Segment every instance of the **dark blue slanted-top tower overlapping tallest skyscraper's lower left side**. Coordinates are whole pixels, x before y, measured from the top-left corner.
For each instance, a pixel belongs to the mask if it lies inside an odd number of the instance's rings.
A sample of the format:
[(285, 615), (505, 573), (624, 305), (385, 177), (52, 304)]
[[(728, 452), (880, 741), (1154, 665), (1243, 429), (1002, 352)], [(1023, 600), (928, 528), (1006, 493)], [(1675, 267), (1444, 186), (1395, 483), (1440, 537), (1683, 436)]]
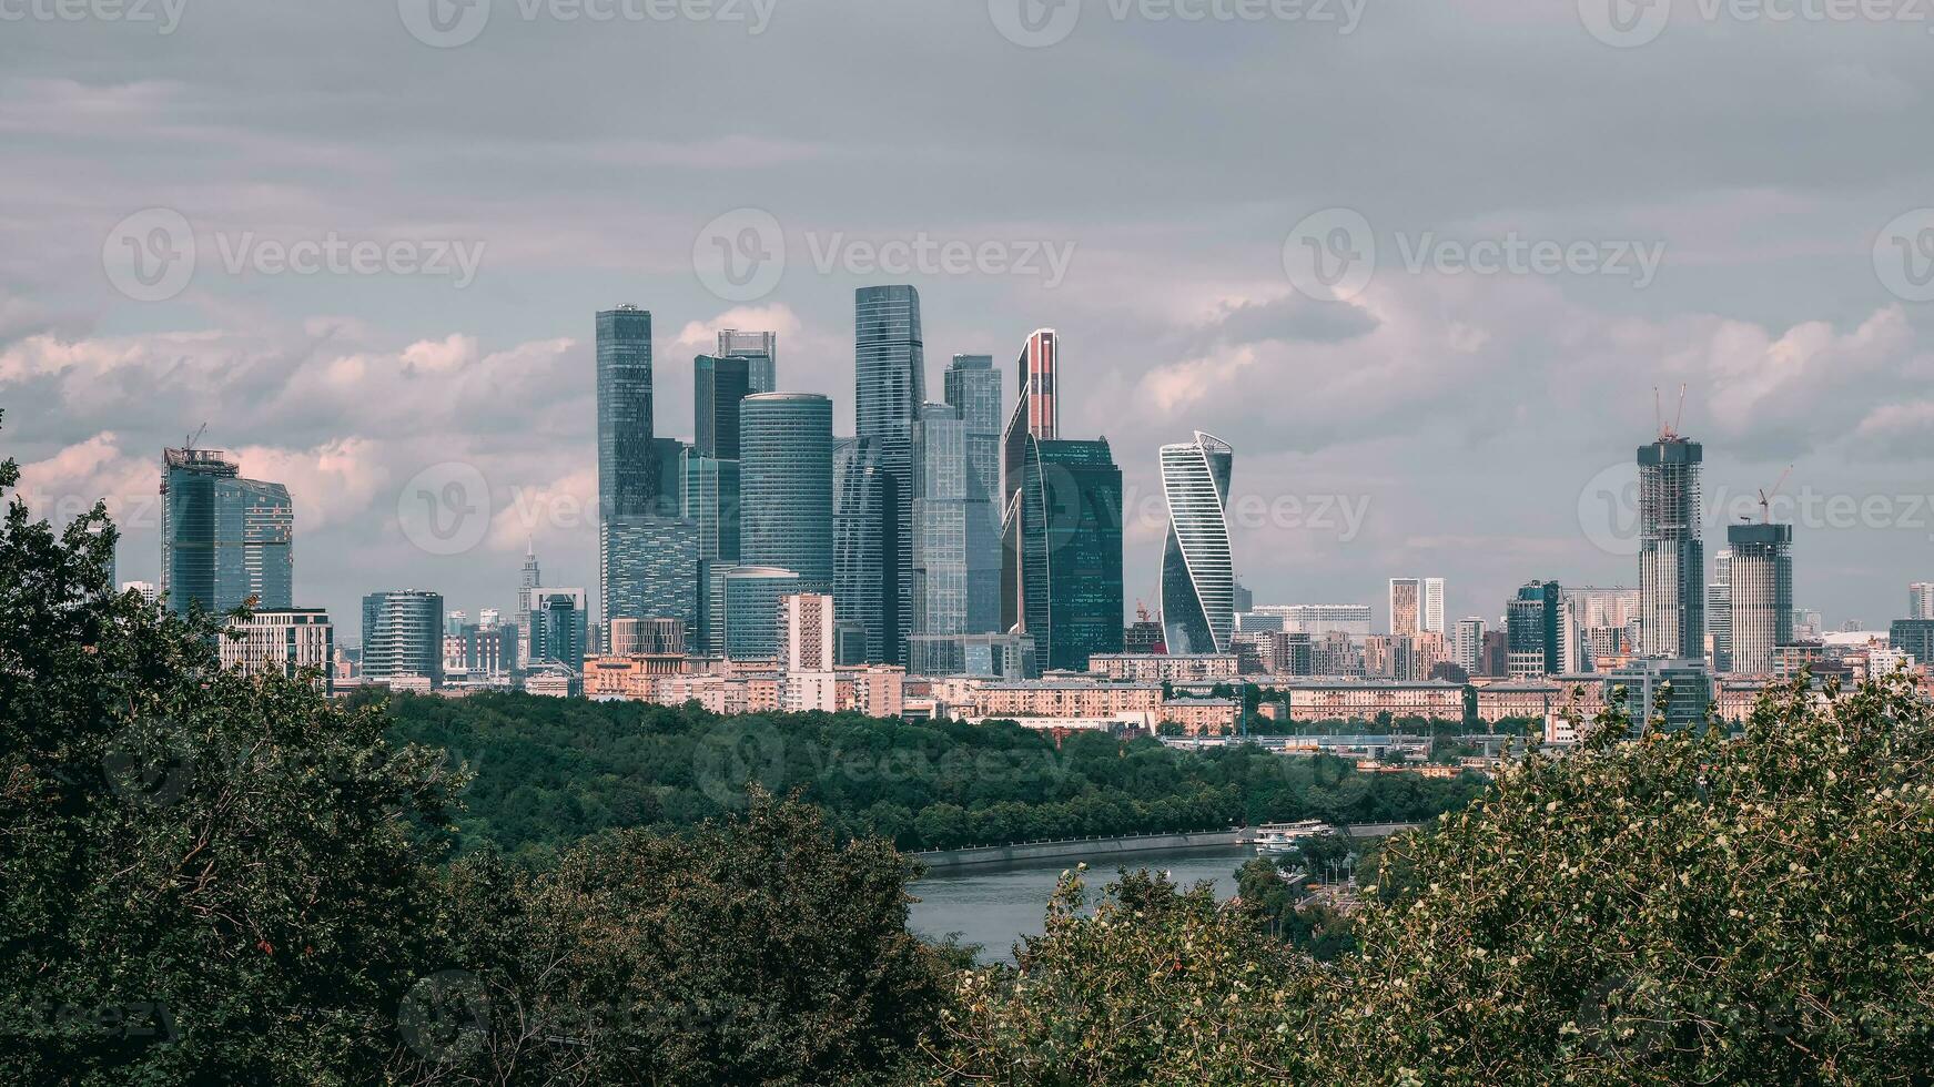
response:
[(886, 663), (899, 631), (897, 484), (880, 464), (880, 443), (834, 445), (834, 598), (839, 619), (866, 631), (863, 663)]

